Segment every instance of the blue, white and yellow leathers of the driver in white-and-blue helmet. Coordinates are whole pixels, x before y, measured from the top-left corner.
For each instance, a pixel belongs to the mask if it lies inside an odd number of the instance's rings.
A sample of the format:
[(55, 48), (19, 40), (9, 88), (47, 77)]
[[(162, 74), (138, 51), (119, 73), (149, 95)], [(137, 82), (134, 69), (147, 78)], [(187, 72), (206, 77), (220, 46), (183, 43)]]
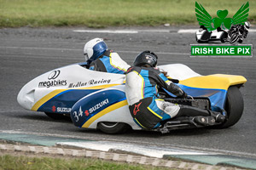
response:
[(90, 70), (124, 74), (130, 67), (119, 54), (108, 49), (102, 56), (90, 63)]

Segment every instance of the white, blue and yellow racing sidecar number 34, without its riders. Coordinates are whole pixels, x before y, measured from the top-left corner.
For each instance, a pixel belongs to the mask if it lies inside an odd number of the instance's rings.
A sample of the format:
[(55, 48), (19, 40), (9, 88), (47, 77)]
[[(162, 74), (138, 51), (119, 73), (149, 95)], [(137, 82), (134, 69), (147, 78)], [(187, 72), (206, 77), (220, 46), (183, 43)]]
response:
[[(201, 76), (182, 64), (160, 65), (169, 77), (178, 80), (189, 99), (176, 99), (164, 93), (166, 100), (226, 114), (224, 123), (214, 127), (230, 127), (239, 121), (243, 99), (239, 88), (245, 77), (214, 74)], [(164, 90), (163, 90), (164, 91)], [(34, 78), (21, 88), (18, 103), (31, 111), (43, 111), (53, 118), (70, 115), (77, 127), (98, 128), (104, 133), (122, 133), (132, 128), (142, 130), (133, 121), (125, 97), (125, 75), (90, 71), (86, 63), (67, 65)], [(202, 127), (191, 117), (177, 117), (161, 122), (154, 131), (167, 133), (177, 128)]]

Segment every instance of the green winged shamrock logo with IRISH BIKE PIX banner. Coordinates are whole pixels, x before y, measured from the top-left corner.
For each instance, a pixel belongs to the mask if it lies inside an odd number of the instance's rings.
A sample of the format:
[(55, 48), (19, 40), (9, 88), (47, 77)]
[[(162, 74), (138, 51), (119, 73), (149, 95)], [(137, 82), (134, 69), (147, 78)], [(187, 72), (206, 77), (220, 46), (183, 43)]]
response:
[(232, 18), (228, 16), (227, 9), (218, 10), (217, 17), (212, 18), (201, 3), (195, 2), (195, 16), (200, 30), (195, 32), (195, 40), (198, 44), (190, 45), (190, 56), (252, 57), (253, 45), (241, 44), (247, 38), (250, 28), (250, 23), (247, 21), (248, 13), (247, 2), (241, 5)]

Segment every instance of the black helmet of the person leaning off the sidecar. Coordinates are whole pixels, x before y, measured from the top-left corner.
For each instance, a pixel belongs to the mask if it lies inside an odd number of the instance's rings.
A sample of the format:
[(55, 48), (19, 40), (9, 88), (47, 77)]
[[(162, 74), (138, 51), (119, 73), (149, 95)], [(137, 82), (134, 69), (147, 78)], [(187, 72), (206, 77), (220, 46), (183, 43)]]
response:
[(143, 51), (138, 54), (136, 59), (133, 61), (134, 66), (146, 66), (155, 67), (157, 65), (157, 55), (151, 51)]

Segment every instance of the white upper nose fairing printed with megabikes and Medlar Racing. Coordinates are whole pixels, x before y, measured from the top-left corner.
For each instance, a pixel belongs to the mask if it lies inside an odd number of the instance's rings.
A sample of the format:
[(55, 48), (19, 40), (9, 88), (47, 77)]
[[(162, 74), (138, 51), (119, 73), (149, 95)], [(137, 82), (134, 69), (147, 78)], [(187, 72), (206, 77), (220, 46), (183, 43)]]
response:
[(125, 75), (90, 71), (80, 65), (67, 65), (34, 78), (21, 88), (18, 103), (31, 110), (39, 99), (56, 89), (90, 88), (101, 85), (121, 84)]

